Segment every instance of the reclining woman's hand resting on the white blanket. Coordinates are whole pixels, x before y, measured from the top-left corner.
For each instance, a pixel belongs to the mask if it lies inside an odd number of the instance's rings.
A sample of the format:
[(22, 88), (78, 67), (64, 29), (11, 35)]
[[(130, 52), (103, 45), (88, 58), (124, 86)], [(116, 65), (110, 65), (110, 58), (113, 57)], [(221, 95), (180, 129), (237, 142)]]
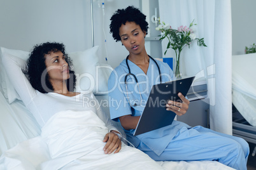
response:
[(107, 133), (105, 135), (103, 140), (103, 142), (106, 142), (106, 145), (103, 148), (104, 154), (111, 154), (114, 150), (115, 150), (114, 154), (116, 154), (121, 150), (122, 142), (119, 136), (117, 136), (117, 134), (115, 133), (119, 133), (119, 132), (111, 131), (110, 133)]

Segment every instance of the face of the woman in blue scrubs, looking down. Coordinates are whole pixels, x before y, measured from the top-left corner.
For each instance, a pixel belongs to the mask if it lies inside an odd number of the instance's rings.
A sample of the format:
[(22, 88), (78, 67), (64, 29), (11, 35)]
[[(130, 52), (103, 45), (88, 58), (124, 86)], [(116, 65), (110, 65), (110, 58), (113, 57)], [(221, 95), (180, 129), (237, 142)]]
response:
[(119, 36), (130, 55), (138, 55), (145, 50), (146, 32), (135, 22), (126, 22), (119, 28)]

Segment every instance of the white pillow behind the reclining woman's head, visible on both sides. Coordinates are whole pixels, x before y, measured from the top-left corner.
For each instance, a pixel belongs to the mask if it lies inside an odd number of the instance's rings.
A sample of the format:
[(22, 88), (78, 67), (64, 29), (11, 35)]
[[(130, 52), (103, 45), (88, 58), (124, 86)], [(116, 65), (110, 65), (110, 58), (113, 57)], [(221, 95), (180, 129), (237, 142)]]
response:
[[(29, 52), (0, 48), (0, 87), (3, 95), (12, 103), (16, 99), (20, 100), (20, 96), (13, 88), (5, 70), (3, 69), (2, 57), (3, 55), (13, 55), (22, 58), (24, 62), (29, 58)], [(68, 53), (73, 60), (74, 71), (76, 74), (76, 91), (92, 91), (95, 95), (108, 94), (108, 77), (113, 70), (110, 65), (103, 65), (99, 63), (97, 50), (99, 46), (86, 49), (85, 51), (78, 51)]]

